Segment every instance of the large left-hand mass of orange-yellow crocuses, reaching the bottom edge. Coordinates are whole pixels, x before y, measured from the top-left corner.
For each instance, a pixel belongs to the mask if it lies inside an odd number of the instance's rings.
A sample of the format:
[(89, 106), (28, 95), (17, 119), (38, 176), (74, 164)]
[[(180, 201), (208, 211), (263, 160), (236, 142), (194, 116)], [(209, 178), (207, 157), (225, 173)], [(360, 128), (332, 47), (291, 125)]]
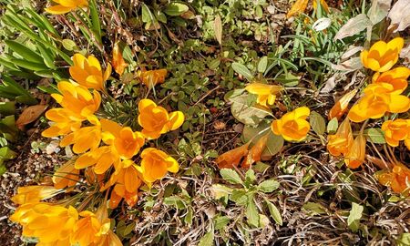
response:
[[(52, 178), (54, 187), (19, 188), (13, 200), (21, 206), (12, 220), (22, 224), (23, 235), (38, 238), (37, 245), (121, 245), (110, 231), (107, 208), (117, 208), (122, 200), (134, 206), (143, 183), (151, 187), (168, 171), (178, 172), (176, 159), (153, 148), (153, 144), (147, 149), (144, 146), (149, 139), (179, 128), (184, 115), (180, 111), (168, 112), (152, 100), (142, 99), (138, 103), (138, 118), (135, 118), (139, 130), (101, 118), (102, 114), (98, 113), (100, 92), (109, 97), (104, 83), (111, 67), (108, 65), (104, 72), (94, 56), (76, 54), (73, 61), (74, 66), (69, 69), (73, 80), (57, 84), (59, 93), (51, 96), (60, 108), (46, 112), (50, 127), (42, 135), (61, 137), (60, 146), (71, 146), (77, 156), (56, 169)], [(76, 190), (78, 185), (92, 191)], [(86, 197), (96, 195), (106, 199), (99, 202), (95, 213), (93, 206), (85, 210), (89, 200), (55, 204), (42, 201), (74, 190), (84, 192)]]

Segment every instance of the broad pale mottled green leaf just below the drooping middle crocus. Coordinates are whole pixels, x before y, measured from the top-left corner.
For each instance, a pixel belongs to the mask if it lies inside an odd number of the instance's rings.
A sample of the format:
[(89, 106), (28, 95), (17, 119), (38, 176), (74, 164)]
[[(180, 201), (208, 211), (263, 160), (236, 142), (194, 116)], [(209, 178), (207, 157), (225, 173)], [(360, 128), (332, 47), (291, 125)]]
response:
[(263, 118), (272, 115), (268, 109), (259, 105), (250, 106), (248, 95), (233, 97), (230, 101), (232, 102), (231, 113), (233, 117), (245, 125), (256, 126)]

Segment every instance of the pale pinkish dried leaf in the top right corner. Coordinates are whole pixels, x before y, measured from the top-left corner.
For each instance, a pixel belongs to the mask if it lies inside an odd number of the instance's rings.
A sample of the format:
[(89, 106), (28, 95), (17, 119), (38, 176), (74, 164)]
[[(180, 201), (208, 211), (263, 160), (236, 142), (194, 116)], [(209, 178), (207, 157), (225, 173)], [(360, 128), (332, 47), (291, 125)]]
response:
[(405, 30), (407, 26), (410, 26), (410, 0), (398, 0), (390, 10), (388, 17), (392, 20), (389, 30), (394, 30), (394, 32)]

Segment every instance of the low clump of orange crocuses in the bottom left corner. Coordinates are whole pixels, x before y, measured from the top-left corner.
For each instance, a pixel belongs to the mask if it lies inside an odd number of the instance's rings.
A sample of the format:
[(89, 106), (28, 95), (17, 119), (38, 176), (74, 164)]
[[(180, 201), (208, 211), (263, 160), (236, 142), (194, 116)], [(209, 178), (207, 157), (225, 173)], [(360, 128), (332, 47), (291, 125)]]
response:
[(22, 204), (10, 217), (23, 226), (23, 236), (38, 239), (36, 245), (122, 246), (110, 229), (106, 203), (92, 212), (43, 202), (40, 197), (37, 199)]

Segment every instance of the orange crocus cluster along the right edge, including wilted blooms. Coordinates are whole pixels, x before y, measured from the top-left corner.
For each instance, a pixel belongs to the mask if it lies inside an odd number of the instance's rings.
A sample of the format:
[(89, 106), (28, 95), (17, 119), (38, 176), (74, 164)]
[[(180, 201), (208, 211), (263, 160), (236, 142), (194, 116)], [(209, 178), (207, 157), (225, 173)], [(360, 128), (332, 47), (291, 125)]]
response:
[[(361, 54), (364, 67), (375, 72), (372, 83), (364, 87), (362, 97), (350, 108), (347, 118), (343, 120), (337, 132), (328, 136), (327, 144), (329, 152), (336, 157), (342, 155), (349, 168), (356, 169), (364, 163), (366, 146), (363, 134), (365, 126), (354, 138), (351, 121), (361, 123), (369, 119), (390, 116), (391, 113), (405, 113), (410, 108), (409, 97), (402, 95), (408, 85), (407, 78), (410, 76), (410, 69), (394, 67), (403, 46), (404, 39), (396, 37), (388, 43), (378, 41)], [(341, 118), (348, 109), (349, 101), (356, 93), (357, 91), (354, 90), (343, 96), (331, 109), (329, 118)], [(382, 125), (382, 130), (388, 145), (397, 147), (400, 141), (404, 141), (407, 149), (410, 149), (409, 119), (386, 120)], [(381, 174), (376, 175), (376, 178), (382, 184), (391, 186), (394, 191), (403, 192), (408, 189), (409, 173), (404, 164), (397, 162), (391, 170), (382, 171)]]

